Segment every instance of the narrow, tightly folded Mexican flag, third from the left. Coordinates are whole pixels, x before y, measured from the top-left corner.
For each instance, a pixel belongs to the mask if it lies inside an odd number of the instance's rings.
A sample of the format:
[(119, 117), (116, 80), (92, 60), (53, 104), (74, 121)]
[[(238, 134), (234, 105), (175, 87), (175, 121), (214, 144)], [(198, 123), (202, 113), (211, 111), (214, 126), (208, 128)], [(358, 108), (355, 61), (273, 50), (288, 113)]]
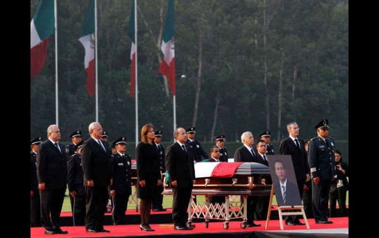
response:
[(130, 18), (129, 18), (129, 27), (127, 29), (127, 35), (129, 36), (131, 40), (131, 48), (130, 48), (130, 60), (131, 60), (131, 66), (130, 66), (130, 86), (129, 86), (129, 92), (130, 96), (134, 98), (134, 88), (135, 88), (135, 28), (134, 28), (134, 0), (132, 0), (133, 6), (131, 8), (130, 12)]

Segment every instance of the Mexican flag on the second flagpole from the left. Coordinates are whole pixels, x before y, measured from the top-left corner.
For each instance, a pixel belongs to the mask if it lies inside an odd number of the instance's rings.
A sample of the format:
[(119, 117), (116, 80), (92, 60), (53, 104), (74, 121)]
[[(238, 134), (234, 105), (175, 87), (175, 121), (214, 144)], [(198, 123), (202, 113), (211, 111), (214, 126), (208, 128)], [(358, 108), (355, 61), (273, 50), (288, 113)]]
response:
[(84, 67), (87, 72), (87, 92), (95, 94), (95, 0), (90, 0), (79, 38), (85, 51)]

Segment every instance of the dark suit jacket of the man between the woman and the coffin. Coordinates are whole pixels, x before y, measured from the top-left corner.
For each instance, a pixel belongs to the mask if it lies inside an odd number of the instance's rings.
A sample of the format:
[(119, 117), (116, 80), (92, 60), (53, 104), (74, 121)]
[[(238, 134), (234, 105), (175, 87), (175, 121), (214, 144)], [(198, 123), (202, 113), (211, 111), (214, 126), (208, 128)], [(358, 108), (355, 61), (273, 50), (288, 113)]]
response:
[(192, 150), (185, 144), (187, 153), (183, 151), (178, 142), (167, 147), (166, 168), (170, 182), (177, 181), (178, 187), (192, 185), (195, 179)]

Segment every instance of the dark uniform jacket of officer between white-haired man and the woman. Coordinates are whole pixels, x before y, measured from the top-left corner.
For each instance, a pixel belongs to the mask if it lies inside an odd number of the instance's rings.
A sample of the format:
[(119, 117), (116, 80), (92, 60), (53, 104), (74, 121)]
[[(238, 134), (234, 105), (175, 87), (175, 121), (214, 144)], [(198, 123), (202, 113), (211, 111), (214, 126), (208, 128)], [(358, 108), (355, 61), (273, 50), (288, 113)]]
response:
[(127, 196), (131, 194), (131, 158), (124, 154), (124, 158), (116, 153), (111, 158), (111, 170), (113, 174), (113, 184), (110, 190), (116, 190), (117, 195)]

